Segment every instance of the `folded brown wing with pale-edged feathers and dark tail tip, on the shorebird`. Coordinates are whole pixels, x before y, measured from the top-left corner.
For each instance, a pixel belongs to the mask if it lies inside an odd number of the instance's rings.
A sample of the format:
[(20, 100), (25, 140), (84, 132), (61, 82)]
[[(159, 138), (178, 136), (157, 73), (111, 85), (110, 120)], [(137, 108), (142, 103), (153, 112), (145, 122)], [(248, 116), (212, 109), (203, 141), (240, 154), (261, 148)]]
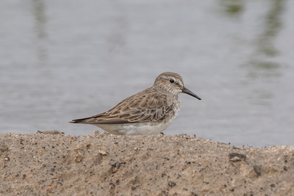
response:
[(120, 124), (163, 120), (167, 116), (166, 114), (173, 110), (173, 106), (168, 105), (166, 94), (152, 93), (154, 92), (152, 88), (147, 88), (142, 93), (122, 100), (114, 108), (104, 113), (76, 119), (69, 123)]

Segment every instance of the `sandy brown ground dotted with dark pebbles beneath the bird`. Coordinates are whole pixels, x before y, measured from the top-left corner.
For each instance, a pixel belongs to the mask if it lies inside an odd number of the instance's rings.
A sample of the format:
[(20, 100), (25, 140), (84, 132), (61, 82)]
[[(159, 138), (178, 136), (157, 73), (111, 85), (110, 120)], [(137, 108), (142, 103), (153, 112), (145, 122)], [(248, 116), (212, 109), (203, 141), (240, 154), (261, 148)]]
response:
[(0, 195), (294, 195), (294, 148), (186, 135), (0, 135)]

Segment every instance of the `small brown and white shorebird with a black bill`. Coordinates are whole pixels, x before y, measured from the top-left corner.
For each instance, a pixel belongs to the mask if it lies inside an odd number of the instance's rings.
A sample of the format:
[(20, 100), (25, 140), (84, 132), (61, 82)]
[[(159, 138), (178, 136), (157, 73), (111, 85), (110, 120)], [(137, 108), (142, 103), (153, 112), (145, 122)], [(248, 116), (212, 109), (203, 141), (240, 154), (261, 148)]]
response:
[(178, 94), (200, 97), (184, 86), (177, 73), (161, 73), (153, 86), (129, 96), (112, 109), (69, 123), (95, 125), (113, 135), (157, 135), (168, 128), (181, 109)]

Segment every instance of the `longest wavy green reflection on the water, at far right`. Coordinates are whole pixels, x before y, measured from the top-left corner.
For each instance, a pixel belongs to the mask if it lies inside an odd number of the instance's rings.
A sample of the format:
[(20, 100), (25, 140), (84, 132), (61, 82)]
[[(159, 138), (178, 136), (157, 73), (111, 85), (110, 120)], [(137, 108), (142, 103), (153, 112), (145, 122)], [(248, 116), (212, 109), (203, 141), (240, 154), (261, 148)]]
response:
[(255, 50), (249, 57), (249, 62), (242, 67), (247, 69), (246, 83), (253, 85), (253, 90), (248, 97), (252, 104), (269, 106), (274, 99), (274, 92), (271, 88), (281, 76), (281, 65), (274, 57), (278, 56), (279, 51), (275, 48), (274, 41), (281, 30), (283, 22), (284, 0), (264, 1), (270, 4), (265, 18), (261, 33), (255, 39)]

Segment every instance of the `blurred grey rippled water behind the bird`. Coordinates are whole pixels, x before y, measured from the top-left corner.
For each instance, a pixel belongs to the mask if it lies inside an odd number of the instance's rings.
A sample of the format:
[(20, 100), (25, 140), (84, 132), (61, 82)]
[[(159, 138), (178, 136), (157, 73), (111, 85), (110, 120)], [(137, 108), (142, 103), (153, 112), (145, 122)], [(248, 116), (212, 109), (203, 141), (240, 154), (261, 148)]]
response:
[[(165, 134), (294, 145), (294, 1), (0, 2), (0, 133), (59, 130), (181, 74)], [(100, 130), (101, 131), (101, 130)]]

